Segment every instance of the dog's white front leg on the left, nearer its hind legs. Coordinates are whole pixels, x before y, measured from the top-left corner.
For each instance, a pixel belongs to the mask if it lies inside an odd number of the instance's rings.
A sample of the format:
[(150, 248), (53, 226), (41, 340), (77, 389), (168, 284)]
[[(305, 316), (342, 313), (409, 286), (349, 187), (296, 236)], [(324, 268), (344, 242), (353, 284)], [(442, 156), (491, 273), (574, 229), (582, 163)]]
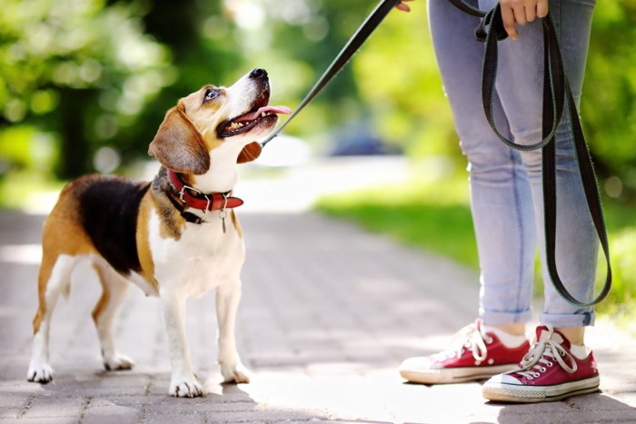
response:
[(180, 398), (202, 396), (203, 389), (194, 375), (185, 337), (185, 299), (168, 291), (161, 293), (161, 301), (172, 367), (169, 393)]

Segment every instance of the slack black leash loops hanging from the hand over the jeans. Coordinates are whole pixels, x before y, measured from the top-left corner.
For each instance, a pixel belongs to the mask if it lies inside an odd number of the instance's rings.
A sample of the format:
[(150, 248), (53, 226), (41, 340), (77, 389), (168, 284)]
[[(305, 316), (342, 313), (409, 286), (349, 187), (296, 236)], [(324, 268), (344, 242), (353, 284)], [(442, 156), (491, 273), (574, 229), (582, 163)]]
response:
[[(605, 299), (611, 289), (611, 265), (610, 249), (607, 238), (607, 229), (603, 219), (601, 197), (596, 182), (596, 175), (591, 163), (591, 156), (585, 143), (585, 136), (581, 128), (579, 114), (577, 112), (574, 96), (567, 75), (563, 69), (561, 47), (556, 35), (552, 16), (542, 18), (543, 26), (543, 118), (542, 141), (521, 145), (507, 140), (497, 129), (492, 116), (492, 104), (495, 95), (495, 82), (497, 80), (497, 41), (506, 38), (506, 32), (502, 25), (502, 13), (497, 4), (491, 11), (483, 12), (466, 5), (462, 0), (449, 0), (452, 5), (465, 13), (482, 18), (482, 23), (477, 28), (475, 35), (484, 46), (483, 70), (482, 70), (482, 103), (486, 118), (492, 130), (497, 136), (513, 149), (531, 151), (542, 149), (542, 179), (543, 179), (543, 215), (545, 225), (546, 261), (552, 284), (561, 297), (571, 305), (586, 308), (595, 305)], [(556, 149), (555, 135), (561, 122), (561, 115), (565, 102), (571, 119), (571, 128), (574, 136), (574, 147), (581, 173), (581, 182), (585, 192), (588, 210), (596, 233), (599, 236), (601, 247), (607, 262), (607, 275), (605, 284), (599, 295), (590, 302), (582, 302), (575, 299), (565, 288), (556, 266), (556, 224), (557, 224), (557, 189), (556, 189)], [(567, 225), (567, 222), (564, 223)]]

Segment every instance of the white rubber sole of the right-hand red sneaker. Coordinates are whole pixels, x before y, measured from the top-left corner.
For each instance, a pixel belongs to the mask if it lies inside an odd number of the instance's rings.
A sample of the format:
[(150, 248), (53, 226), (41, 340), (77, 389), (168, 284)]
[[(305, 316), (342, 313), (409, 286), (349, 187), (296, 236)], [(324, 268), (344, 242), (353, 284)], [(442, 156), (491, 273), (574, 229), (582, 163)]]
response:
[(591, 379), (571, 381), (555, 386), (521, 386), (514, 384), (483, 385), (483, 397), (489, 400), (515, 403), (553, 402), (594, 393), (599, 390), (598, 376)]

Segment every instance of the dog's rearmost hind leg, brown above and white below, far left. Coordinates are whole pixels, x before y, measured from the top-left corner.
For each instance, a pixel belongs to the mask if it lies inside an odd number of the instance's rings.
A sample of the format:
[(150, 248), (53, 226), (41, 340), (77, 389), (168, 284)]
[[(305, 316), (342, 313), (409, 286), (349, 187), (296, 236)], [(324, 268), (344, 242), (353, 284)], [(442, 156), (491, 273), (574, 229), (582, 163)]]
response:
[(33, 351), (26, 375), (29, 381), (47, 383), (53, 380), (53, 369), (49, 365), (51, 318), (60, 293), (68, 289), (76, 261), (75, 256), (44, 251), (38, 275), (39, 306), (33, 320)]

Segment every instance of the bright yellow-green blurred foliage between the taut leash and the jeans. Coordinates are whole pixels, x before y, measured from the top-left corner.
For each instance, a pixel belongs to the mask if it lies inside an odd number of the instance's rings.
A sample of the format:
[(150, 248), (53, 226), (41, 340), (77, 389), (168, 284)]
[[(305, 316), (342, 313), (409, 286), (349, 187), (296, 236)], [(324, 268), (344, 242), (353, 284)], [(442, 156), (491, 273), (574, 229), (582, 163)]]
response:
[(376, 130), (412, 156), (458, 156), (451, 109), (432, 51), (423, 5), (393, 14), (355, 57), (353, 68)]

